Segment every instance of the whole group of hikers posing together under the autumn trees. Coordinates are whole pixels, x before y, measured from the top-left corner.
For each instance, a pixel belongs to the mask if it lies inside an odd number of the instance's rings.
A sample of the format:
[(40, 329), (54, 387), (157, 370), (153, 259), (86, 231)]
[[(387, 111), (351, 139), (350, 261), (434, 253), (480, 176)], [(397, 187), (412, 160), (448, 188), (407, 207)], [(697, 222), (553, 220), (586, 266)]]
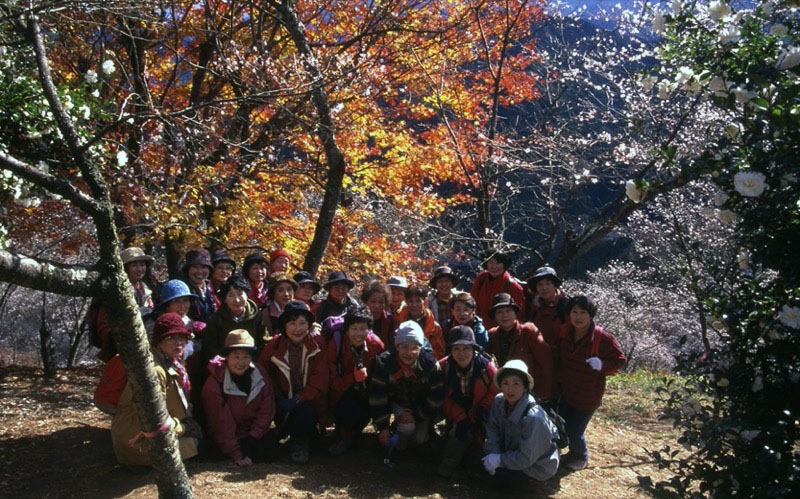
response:
[[(323, 283), (287, 274), (285, 250), (248, 255), (239, 273), (223, 251), (191, 250), (184, 278), (156, 299), (145, 284), (153, 258), (139, 248), (122, 257), (183, 459), (217, 453), (248, 466), (277, 459), (288, 437), (290, 459), (305, 463), (331, 426), (327, 451), (342, 455), (372, 422), (397, 451), (440, 439), (442, 476), (472, 456), (503, 484), (546, 480), (559, 465), (587, 466), (586, 427), (626, 361), (590, 298), (565, 296), (550, 267), (523, 286), (499, 251), (469, 292), (440, 266), (428, 286), (364, 283), (360, 301), (344, 271)], [(107, 312), (97, 314), (99, 358), (119, 370)], [(103, 409), (118, 461), (147, 465), (130, 386), (114, 402)]]

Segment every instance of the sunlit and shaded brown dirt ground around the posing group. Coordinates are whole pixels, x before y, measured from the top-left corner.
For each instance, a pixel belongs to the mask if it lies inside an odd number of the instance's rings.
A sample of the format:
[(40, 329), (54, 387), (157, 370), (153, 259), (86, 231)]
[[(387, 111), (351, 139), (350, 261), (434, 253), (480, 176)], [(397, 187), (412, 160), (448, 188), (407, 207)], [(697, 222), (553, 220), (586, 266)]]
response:
[[(0, 368), (0, 490), (3, 497), (154, 497), (152, 474), (116, 465), (110, 418), (91, 402), (98, 371)], [(368, 430), (371, 431), (371, 430)], [(186, 463), (196, 497), (509, 497), (487, 487), (478, 469), (453, 481), (436, 475), (436, 452), (398, 454), (392, 469), (373, 435), (333, 458), (320, 447), (304, 466), (288, 457), (238, 468), (231, 461)], [(659, 476), (644, 448), (673, 437), (642, 394), (613, 387), (589, 424), (589, 468), (560, 471), (526, 497), (641, 497), (637, 475)], [(513, 494), (518, 495), (518, 494)]]

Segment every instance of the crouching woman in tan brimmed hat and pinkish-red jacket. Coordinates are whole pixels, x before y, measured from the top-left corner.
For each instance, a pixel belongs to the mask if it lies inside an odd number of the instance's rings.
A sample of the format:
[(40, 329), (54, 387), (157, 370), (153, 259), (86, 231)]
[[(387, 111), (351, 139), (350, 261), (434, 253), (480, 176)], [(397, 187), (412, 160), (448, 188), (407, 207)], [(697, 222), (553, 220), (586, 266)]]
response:
[(263, 367), (253, 364), (253, 337), (235, 329), (225, 338), (224, 357), (208, 363), (203, 408), (211, 438), (239, 466), (271, 461), (277, 444), (269, 435), (275, 417), (275, 394)]

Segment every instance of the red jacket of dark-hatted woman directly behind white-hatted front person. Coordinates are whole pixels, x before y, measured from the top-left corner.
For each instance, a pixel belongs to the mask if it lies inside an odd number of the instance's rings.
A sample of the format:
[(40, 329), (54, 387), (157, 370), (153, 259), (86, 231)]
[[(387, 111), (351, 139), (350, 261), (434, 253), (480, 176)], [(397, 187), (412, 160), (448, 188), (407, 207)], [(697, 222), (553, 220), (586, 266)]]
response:
[(556, 396), (555, 362), (550, 345), (545, 343), (542, 333), (536, 325), (530, 322), (520, 324), (514, 322), (513, 337), (508, 353), (503, 356), (500, 327), (489, 330), (489, 346), (492, 354), (497, 357), (499, 365), (509, 360), (519, 359), (528, 366), (528, 372), (533, 376), (533, 392), (542, 401), (547, 401)]

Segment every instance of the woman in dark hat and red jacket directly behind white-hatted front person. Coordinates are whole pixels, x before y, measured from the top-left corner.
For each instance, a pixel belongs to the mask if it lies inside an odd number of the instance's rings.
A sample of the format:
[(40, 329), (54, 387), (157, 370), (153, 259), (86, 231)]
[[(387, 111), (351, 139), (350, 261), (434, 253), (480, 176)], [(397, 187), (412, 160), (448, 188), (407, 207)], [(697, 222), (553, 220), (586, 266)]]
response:
[(519, 359), (528, 366), (535, 383), (533, 392), (542, 404), (554, 402), (555, 362), (550, 345), (531, 322), (520, 324), (517, 320), (519, 305), (514, 298), (500, 293), (492, 300), (489, 316), (498, 326), (489, 330), (489, 346), (500, 365)]

